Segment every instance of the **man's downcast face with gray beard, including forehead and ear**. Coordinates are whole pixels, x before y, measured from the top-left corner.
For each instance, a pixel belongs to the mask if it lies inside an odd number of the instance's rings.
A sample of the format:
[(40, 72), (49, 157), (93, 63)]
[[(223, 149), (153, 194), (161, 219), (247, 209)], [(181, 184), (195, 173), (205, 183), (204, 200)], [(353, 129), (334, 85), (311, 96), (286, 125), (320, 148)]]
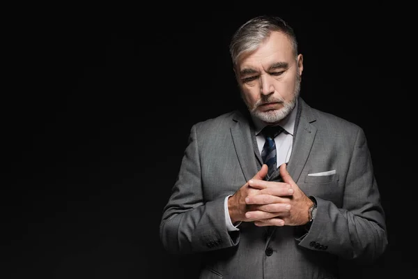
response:
[(255, 52), (238, 61), (238, 84), (252, 115), (265, 123), (277, 123), (287, 116), (300, 91), (302, 54), (296, 58), (291, 41), (279, 32)]

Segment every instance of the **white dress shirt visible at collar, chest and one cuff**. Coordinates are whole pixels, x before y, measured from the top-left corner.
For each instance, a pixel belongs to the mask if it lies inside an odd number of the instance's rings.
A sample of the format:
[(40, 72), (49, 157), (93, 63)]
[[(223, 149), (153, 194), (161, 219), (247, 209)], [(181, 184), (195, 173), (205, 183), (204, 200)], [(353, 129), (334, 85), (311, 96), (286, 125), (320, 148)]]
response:
[[(281, 128), (284, 128), (284, 130), (279, 135), (277, 135), (277, 137), (274, 137), (274, 142), (276, 144), (276, 153), (277, 153), (277, 164), (276, 164), (277, 167), (280, 167), (280, 165), (283, 163), (288, 163), (288, 160), (291, 157), (296, 114), (297, 114), (297, 103), (295, 105), (295, 108), (292, 110), (292, 112), (288, 116), (286, 116), (286, 118), (282, 119), (279, 122), (279, 125), (281, 126)], [(260, 151), (260, 154), (261, 154), (261, 151), (263, 150), (263, 145), (265, 142), (265, 137), (261, 134), (261, 130), (263, 130), (263, 128), (266, 125), (265, 123), (263, 123), (259, 119), (256, 119), (255, 117), (252, 117), (252, 120), (254, 121), (254, 126), (255, 126), (258, 151)], [(240, 223), (238, 223), (235, 226), (231, 223), (231, 217), (229, 216), (229, 210), (228, 210), (228, 198), (230, 196), (231, 195), (227, 196), (224, 202), (226, 227), (229, 231), (236, 231), (236, 230), (239, 230), (238, 225), (240, 225)]]

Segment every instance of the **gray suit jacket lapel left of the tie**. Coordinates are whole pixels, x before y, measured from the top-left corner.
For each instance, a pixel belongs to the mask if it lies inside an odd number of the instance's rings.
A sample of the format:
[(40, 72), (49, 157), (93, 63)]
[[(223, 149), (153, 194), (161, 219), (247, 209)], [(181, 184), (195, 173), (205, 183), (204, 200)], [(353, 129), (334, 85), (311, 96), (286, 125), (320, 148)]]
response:
[(254, 160), (254, 135), (251, 135), (253, 131), (245, 116), (237, 112), (233, 116), (233, 121), (231, 136), (245, 181), (248, 181), (258, 172), (256, 160)]

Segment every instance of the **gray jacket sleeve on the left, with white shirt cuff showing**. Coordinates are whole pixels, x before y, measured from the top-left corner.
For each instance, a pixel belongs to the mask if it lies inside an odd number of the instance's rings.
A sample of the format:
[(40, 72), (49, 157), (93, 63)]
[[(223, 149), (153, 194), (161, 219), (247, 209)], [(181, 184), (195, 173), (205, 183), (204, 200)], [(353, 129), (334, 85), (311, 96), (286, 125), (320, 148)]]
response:
[(180, 171), (160, 223), (162, 245), (171, 253), (231, 247), (239, 237), (238, 232), (230, 235), (226, 229), (225, 197), (204, 202), (196, 127), (194, 125), (189, 134)]

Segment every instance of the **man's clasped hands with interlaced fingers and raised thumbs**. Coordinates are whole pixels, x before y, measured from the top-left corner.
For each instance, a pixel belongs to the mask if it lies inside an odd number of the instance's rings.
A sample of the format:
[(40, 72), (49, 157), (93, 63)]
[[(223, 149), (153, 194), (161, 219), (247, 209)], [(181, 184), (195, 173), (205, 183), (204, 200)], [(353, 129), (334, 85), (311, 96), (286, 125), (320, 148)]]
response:
[(311, 199), (293, 181), (286, 164), (279, 168), (283, 182), (264, 181), (267, 165), (228, 199), (232, 223), (254, 222), (255, 225), (304, 225), (309, 221)]

